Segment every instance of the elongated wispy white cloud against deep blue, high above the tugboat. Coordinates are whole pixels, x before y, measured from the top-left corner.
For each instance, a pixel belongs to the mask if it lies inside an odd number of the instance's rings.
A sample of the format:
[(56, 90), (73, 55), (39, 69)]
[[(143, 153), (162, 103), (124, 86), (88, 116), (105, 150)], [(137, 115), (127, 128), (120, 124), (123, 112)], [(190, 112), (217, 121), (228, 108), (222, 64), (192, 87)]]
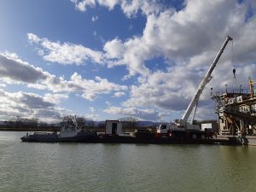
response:
[(102, 64), (104, 61), (102, 52), (86, 48), (81, 44), (50, 42), (47, 38), (38, 38), (32, 33), (27, 33), (27, 38), (31, 44), (38, 44), (38, 55), (42, 55), (45, 61), (63, 65), (81, 65), (85, 61)]

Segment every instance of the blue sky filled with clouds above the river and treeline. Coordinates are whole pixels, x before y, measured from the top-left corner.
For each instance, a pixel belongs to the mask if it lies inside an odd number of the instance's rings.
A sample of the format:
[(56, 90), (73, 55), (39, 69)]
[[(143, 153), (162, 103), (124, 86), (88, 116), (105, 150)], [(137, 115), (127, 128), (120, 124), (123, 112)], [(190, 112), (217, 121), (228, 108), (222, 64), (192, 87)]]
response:
[(195, 115), (216, 119), (211, 88), (256, 79), (255, 11), (253, 0), (0, 1), (0, 119), (180, 119), (229, 35)]

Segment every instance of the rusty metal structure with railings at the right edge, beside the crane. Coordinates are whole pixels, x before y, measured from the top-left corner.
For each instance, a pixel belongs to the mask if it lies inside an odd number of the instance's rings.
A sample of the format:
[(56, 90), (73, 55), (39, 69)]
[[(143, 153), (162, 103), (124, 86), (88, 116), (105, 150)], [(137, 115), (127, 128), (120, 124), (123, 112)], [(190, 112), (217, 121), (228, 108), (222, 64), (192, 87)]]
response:
[[(236, 80), (236, 70), (233, 70)], [(249, 77), (248, 89), (227, 89), (223, 92), (211, 92), (212, 100), (217, 103), (219, 133), (223, 135), (256, 134), (256, 90)], [(234, 82), (234, 81), (233, 81)]]

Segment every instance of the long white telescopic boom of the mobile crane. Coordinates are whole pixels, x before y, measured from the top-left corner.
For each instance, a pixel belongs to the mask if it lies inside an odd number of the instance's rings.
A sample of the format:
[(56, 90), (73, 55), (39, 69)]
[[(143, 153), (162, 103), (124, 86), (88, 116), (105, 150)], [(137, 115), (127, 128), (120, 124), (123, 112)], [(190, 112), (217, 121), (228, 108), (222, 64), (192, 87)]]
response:
[(196, 103), (199, 101), (201, 93), (204, 90), (206, 84), (209, 83), (210, 80), (212, 79), (211, 74), (212, 74), (214, 67), (216, 67), (219, 57), (222, 55), (222, 53), (223, 53), (226, 45), (229, 43), (229, 41), (232, 41), (232, 40), (233, 40), (233, 38), (230, 38), (230, 36), (227, 36), (227, 38), (225, 38), (224, 44), (222, 45), (221, 49), (219, 49), (218, 54), (216, 55), (215, 59), (213, 60), (211, 67), (208, 69), (206, 76), (202, 79), (201, 84), (199, 85), (195, 96), (189, 103), (189, 107), (187, 108), (186, 112), (183, 114), (183, 118), (181, 119), (183, 121), (183, 123), (187, 122), (187, 120), (189, 119), (189, 115), (192, 112), (192, 109), (195, 107)]

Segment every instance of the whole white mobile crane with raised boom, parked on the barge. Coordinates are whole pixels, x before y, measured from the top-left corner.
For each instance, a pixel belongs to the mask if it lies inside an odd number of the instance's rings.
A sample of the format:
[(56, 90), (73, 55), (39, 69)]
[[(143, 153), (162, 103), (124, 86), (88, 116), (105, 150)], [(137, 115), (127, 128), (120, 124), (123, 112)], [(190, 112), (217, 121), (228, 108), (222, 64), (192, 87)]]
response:
[[(172, 136), (174, 135), (177, 137), (207, 137), (207, 133), (204, 133), (203, 131), (200, 131), (200, 127), (198, 125), (194, 125), (194, 117), (195, 117), (195, 111), (197, 108), (197, 104), (199, 102), (199, 98), (201, 96), (202, 91), (204, 90), (207, 83), (210, 82), (212, 79), (212, 71), (214, 67), (216, 67), (216, 64), (218, 62), (218, 59), (224, 52), (224, 49), (226, 45), (229, 43), (229, 41), (232, 41), (233, 38), (230, 38), (230, 36), (227, 36), (225, 38), (224, 44), (221, 46), (221, 48), (218, 51), (218, 54), (215, 56), (212, 65), (209, 67), (205, 77), (201, 80), (201, 84), (199, 84), (199, 87), (195, 93), (195, 96), (189, 103), (189, 106), (186, 110), (186, 112), (183, 114), (182, 119), (174, 119), (171, 123), (168, 124), (161, 124), (157, 127), (157, 134), (160, 136)], [(188, 122), (189, 116), (192, 113), (192, 110), (194, 109), (194, 113), (191, 119), (191, 122)], [(191, 133), (191, 134), (190, 134)]]

